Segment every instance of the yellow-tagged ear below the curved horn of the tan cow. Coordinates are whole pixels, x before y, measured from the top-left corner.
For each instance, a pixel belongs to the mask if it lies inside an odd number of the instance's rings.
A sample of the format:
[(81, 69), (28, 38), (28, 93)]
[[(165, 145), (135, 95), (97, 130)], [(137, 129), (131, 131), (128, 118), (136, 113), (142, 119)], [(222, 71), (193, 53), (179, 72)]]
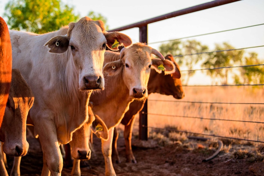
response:
[(168, 59), (162, 61), (161, 59), (153, 58), (151, 67), (155, 69), (158, 73), (164, 71), (165, 75), (172, 74), (175, 72), (174, 63), (172, 61), (169, 61)]

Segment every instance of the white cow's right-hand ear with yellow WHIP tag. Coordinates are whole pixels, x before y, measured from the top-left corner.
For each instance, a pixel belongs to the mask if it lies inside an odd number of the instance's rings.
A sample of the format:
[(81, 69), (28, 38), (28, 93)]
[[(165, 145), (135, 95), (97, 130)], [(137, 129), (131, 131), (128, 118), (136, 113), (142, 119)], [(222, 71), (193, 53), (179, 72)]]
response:
[(130, 37), (120, 32), (106, 32), (104, 36), (107, 47), (113, 51), (118, 51), (119, 46), (129, 47), (132, 44)]

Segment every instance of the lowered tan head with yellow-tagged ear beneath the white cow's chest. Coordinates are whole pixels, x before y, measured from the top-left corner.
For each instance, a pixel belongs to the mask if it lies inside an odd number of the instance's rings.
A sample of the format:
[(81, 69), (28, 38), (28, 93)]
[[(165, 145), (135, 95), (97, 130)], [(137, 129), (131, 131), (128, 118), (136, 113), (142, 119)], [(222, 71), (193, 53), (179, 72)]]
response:
[(75, 131), (70, 141), (72, 148), (72, 157), (75, 159), (90, 159), (91, 149), (89, 147), (89, 140), (91, 130), (96, 133), (96, 136), (104, 140), (108, 139), (108, 131), (104, 122), (92, 112), (92, 104), (89, 102), (88, 106), (89, 120), (84, 125)]

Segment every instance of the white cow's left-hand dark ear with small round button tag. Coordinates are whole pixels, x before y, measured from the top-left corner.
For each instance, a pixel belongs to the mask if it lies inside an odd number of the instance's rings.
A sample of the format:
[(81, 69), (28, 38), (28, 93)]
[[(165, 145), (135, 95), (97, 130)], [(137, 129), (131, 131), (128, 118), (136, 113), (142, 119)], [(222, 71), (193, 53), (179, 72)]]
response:
[(45, 46), (48, 45), (51, 53), (64, 53), (69, 48), (69, 37), (68, 36), (56, 36), (50, 39)]

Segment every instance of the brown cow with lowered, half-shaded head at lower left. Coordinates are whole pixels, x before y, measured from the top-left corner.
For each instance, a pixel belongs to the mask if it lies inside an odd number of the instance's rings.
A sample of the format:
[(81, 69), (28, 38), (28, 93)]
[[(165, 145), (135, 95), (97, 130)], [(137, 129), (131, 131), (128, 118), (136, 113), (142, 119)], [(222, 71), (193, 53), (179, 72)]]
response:
[[(7, 155), (24, 156), (28, 152), (26, 121), (34, 95), (18, 69), (12, 69), (12, 81), (0, 129), (2, 149)], [(14, 125), (15, 124), (15, 125)], [(8, 176), (0, 149), (0, 175)]]

